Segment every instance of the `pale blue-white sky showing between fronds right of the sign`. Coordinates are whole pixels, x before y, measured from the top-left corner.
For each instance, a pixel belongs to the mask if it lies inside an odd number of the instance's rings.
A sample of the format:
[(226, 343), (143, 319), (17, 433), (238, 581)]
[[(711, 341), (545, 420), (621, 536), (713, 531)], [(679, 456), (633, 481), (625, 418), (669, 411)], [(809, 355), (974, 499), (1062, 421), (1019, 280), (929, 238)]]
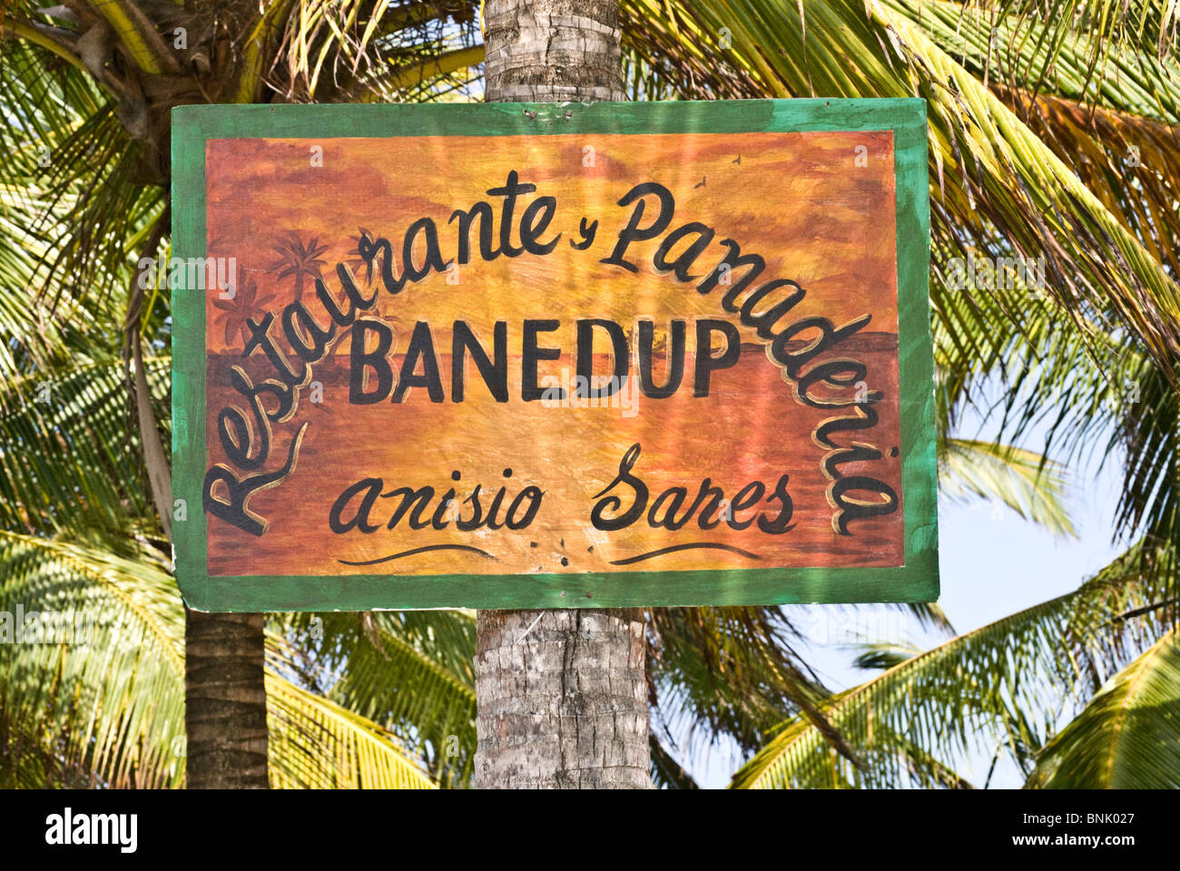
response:
[[(958, 434), (990, 439), (995, 428), (969, 419)], [(1101, 438), (1104, 444), (1104, 436)], [(1043, 439), (1044, 431), (1034, 427), (1022, 439), (1022, 446), (1040, 450)], [(1067, 469), (1070, 486), (1066, 502), (1075, 538), (1055, 536), (997, 503), (958, 502), (939, 496), (942, 595), (938, 602), (957, 633), (1076, 589), (1123, 550), (1112, 542), (1120, 490), (1119, 464), (1108, 463), (1100, 470), (1100, 460), (1101, 452), (1095, 452)], [(848, 636), (884, 640), (906, 635), (923, 649), (945, 640), (937, 633), (924, 631), (907, 613), (889, 605), (799, 607), (792, 618), (813, 640), (808, 662), (832, 690), (846, 689), (877, 674), (852, 666), (858, 651), (841, 643)], [(741, 761), (732, 749), (722, 747), (688, 760), (686, 768), (702, 787), (721, 788)], [(990, 764), (990, 755), (965, 759), (956, 770), (982, 787)], [(1016, 766), (1004, 760), (996, 766), (990, 781), (991, 788), (1018, 788), (1022, 784)]]

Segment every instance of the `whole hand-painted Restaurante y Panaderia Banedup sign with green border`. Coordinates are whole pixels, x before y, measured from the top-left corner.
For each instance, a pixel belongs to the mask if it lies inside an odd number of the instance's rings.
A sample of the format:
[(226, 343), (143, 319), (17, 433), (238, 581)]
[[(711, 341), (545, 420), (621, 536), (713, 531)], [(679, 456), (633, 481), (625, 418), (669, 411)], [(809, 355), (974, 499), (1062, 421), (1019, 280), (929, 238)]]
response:
[(926, 185), (917, 99), (177, 109), (185, 600), (936, 598)]

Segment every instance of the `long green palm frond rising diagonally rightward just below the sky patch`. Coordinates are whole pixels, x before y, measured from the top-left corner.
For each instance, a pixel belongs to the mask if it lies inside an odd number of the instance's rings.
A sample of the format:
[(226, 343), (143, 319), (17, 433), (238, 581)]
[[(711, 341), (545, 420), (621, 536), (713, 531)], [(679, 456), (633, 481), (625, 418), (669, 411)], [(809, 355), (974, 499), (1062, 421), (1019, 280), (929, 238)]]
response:
[[(1141, 637), (1113, 631), (1110, 620), (1160, 601), (1167, 581), (1142, 565), (1133, 550), (1074, 592), (952, 638), (822, 702), (820, 710), (868, 762), (866, 772), (794, 716), (734, 774), (732, 787), (929, 786), (930, 778), (910, 767), (911, 747), (948, 758), (998, 744), (1020, 760), (1047, 738), (1035, 722), (1051, 722)], [(1152, 622), (1147, 631), (1163, 629)]]

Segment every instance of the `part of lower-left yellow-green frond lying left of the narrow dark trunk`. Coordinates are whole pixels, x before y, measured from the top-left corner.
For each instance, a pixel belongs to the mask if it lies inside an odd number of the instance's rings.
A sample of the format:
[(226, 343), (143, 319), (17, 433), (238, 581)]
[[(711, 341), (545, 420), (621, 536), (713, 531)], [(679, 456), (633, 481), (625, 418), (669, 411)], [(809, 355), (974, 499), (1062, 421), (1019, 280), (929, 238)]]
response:
[(22, 746), (92, 786), (177, 786), (184, 616), (171, 576), (146, 558), (0, 531), (0, 611), (18, 607), (81, 634), (0, 644), (4, 767), (19, 777)]

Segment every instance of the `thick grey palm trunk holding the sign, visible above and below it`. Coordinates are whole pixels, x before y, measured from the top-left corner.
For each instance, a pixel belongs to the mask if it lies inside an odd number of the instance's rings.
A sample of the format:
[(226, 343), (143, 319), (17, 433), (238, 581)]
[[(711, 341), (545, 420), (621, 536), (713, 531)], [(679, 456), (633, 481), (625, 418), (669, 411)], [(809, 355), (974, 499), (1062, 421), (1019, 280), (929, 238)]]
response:
[[(487, 0), (484, 41), (489, 101), (623, 98), (617, 0)], [(480, 611), (476, 626), (476, 786), (651, 786), (642, 611)]]

